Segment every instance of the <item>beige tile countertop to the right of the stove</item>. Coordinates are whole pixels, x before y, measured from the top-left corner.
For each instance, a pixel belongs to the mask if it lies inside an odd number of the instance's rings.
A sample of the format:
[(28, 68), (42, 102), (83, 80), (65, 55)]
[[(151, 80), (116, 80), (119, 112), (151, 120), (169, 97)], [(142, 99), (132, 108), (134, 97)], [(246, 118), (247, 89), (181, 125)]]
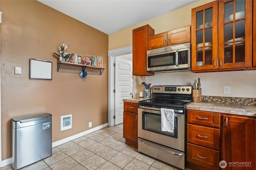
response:
[(190, 110), (212, 111), (217, 113), (256, 117), (256, 106), (220, 104), (220, 103), (209, 103), (209, 102), (202, 102), (202, 103), (192, 102), (188, 104), (186, 108)]

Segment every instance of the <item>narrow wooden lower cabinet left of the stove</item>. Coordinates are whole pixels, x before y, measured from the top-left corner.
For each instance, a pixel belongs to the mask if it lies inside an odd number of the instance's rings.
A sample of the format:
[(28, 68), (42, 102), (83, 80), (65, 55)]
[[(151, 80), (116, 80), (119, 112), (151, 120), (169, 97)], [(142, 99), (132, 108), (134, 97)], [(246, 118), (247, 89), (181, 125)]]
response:
[(125, 143), (138, 148), (138, 104), (124, 102)]

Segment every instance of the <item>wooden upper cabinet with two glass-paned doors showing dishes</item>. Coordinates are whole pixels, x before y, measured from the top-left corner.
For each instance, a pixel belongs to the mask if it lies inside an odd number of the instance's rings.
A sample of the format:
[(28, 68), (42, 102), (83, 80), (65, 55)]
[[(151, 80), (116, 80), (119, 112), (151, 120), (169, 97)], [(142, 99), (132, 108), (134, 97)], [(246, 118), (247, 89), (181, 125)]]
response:
[(192, 72), (252, 68), (252, 1), (219, 0), (192, 9)]

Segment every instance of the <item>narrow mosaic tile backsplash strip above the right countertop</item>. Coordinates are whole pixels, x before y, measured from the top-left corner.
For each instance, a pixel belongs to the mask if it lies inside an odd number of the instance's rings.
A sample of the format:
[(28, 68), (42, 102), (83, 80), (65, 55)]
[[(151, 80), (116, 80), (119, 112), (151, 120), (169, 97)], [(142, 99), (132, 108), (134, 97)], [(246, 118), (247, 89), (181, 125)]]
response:
[(235, 97), (221, 97), (221, 96), (202, 96), (202, 102), (256, 106), (256, 98), (235, 98)]

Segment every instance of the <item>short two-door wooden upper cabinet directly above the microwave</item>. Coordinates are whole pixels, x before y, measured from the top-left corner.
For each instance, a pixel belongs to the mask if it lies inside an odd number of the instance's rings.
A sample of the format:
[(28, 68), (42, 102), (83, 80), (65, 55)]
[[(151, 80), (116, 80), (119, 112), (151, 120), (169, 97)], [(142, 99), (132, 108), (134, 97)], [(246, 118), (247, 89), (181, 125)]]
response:
[(190, 25), (148, 37), (148, 50), (190, 42)]

